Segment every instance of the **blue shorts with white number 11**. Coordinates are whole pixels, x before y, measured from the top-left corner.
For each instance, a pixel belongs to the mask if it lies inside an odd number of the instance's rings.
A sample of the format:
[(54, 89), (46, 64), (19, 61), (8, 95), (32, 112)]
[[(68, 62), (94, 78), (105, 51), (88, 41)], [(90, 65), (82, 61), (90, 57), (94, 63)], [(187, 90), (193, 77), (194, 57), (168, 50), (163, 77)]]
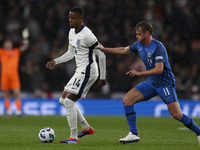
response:
[(144, 81), (136, 85), (135, 88), (144, 95), (145, 100), (159, 95), (165, 104), (178, 101), (176, 90), (173, 85), (156, 87), (151, 85), (148, 81)]

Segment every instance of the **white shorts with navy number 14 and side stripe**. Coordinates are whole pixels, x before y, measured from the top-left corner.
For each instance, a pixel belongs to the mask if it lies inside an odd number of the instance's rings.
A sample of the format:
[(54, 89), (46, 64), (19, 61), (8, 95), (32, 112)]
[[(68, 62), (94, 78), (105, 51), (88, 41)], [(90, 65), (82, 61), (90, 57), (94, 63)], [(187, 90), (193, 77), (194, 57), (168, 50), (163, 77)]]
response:
[(76, 94), (85, 98), (89, 89), (97, 80), (98, 76), (86, 76), (85, 74), (75, 73), (64, 87), (64, 91)]

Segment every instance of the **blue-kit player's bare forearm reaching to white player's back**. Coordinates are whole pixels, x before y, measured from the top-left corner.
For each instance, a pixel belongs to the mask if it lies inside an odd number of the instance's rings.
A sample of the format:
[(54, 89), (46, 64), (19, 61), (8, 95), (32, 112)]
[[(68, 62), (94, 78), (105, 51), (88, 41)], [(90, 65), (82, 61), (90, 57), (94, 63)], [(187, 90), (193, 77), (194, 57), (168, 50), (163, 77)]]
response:
[(100, 43), (98, 46), (96, 46), (97, 49), (100, 49), (101, 51), (104, 52), (108, 52), (108, 53), (112, 53), (112, 54), (129, 54), (130, 50), (129, 50), (129, 46), (127, 47), (116, 47), (116, 48), (107, 48), (107, 47), (103, 47)]

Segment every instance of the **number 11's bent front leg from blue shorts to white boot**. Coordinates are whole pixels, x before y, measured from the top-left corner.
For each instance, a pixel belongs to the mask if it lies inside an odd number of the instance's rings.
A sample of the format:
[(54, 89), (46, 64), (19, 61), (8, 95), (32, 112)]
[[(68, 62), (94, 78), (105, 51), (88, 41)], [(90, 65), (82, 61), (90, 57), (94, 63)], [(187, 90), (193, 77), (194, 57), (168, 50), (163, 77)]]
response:
[(136, 124), (136, 112), (134, 109), (134, 104), (147, 100), (153, 96), (157, 95), (156, 92), (151, 88), (148, 82), (142, 82), (135, 88), (132, 88), (123, 98), (124, 110), (127, 122), (130, 127), (130, 133), (119, 140), (121, 143), (130, 143), (139, 141), (139, 136), (137, 132)]

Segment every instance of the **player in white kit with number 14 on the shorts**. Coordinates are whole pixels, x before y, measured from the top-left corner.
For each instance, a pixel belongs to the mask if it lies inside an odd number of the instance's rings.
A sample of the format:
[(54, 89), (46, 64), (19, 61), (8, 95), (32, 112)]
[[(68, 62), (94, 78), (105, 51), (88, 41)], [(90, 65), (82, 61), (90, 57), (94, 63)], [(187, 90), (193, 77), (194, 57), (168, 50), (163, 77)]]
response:
[[(99, 76), (96, 56), (99, 60), (100, 80), (99, 86), (106, 84), (106, 57), (105, 54), (95, 49), (98, 40), (91, 30), (83, 23), (84, 10), (75, 6), (69, 12), (69, 45), (68, 51), (62, 56), (47, 62), (46, 67), (53, 69), (55, 65), (67, 62), (75, 57), (76, 71), (67, 85), (64, 87), (59, 102), (66, 108), (67, 120), (71, 129), (68, 140), (60, 143), (78, 143), (78, 138), (93, 134), (94, 129), (88, 124), (80, 110), (75, 106), (79, 98), (86, 97), (90, 87)], [(77, 135), (77, 120), (81, 124), (82, 131)]]

